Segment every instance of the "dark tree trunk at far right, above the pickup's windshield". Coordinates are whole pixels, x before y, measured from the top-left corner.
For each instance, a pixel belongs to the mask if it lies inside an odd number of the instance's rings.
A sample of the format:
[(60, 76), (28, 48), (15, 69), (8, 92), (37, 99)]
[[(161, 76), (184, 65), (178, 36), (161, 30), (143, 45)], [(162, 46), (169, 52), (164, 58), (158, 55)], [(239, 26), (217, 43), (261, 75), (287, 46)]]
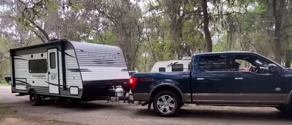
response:
[(282, 24), (282, 10), (284, 8), (284, 0), (280, 0), (279, 8), (277, 9), (277, 0), (273, 0), (273, 14), (275, 22), (275, 31), (274, 31), (274, 45), (275, 45), (275, 61), (281, 64), (281, 24)]

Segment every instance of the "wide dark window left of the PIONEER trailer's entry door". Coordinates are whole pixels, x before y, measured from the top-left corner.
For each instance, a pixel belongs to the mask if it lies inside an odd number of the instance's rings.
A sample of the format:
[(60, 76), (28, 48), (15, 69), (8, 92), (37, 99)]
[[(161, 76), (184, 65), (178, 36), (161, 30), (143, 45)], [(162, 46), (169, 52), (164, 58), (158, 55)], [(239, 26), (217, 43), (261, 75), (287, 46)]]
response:
[(29, 73), (47, 73), (47, 59), (34, 59), (28, 61)]

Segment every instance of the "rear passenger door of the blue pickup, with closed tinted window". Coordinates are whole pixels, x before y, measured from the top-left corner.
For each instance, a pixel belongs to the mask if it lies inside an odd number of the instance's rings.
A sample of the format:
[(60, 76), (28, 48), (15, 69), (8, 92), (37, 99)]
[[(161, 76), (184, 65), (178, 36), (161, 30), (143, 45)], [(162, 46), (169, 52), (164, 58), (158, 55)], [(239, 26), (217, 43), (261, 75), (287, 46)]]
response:
[(196, 60), (192, 100), (198, 104), (225, 103), (227, 96), (232, 96), (231, 75), (226, 69), (225, 55), (200, 56)]

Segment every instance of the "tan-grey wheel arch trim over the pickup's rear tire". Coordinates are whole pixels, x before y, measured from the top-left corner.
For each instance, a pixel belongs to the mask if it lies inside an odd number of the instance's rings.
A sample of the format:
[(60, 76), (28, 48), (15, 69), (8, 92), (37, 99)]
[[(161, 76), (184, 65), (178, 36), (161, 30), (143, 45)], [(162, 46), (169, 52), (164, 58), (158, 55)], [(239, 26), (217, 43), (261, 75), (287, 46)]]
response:
[(182, 95), (180, 94), (178, 89), (175, 89), (174, 87), (169, 86), (169, 85), (163, 85), (163, 86), (160, 86), (160, 87), (157, 87), (156, 89), (154, 89), (150, 95), (149, 101), (152, 102), (154, 96), (161, 91), (172, 91), (180, 98), (180, 101), (183, 101)]

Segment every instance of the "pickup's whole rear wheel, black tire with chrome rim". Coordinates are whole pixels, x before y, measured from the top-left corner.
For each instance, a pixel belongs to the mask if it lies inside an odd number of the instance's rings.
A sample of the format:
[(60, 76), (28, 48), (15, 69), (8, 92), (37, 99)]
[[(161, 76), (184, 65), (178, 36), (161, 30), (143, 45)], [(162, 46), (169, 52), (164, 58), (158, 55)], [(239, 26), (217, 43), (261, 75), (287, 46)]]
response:
[(175, 116), (181, 105), (181, 99), (171, 91), (161, 91), (153, 99), (153, 108), (162, 117)]

